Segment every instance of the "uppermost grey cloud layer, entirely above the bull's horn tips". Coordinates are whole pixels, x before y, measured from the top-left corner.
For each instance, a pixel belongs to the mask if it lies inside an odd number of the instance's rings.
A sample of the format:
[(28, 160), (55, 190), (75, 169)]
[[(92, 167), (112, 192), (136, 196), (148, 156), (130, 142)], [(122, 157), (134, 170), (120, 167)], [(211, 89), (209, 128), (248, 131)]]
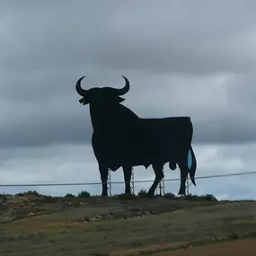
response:
[(23, 71), (86, 62), (150, 73), (254, 70), (253, 1), (162, 3), (8, 4), (2, 61)]

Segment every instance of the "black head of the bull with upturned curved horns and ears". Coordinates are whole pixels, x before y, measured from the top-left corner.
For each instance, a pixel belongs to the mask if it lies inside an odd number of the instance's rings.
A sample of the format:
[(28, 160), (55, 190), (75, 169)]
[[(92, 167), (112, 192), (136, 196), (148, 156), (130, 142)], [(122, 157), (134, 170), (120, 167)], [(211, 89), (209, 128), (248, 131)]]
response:
[(103, 87), (103, 88), (92, 88), (89, 90), (84, 90), (81, 87), (81, 81), (84, 79), (85, 76), (81, 77), (76, 85), (75, 89), (76, 92), (83, 96), (79, 102), (81, 104), (90, 104), (90, 103), (119, 103), (125, 101), (125, 99), (119, 97), (121, 95), (124, 95), (125, 93), (128, 93), (129, 90), (129, 82), (128, 79), (122, 75), (126, 81), (126, 84), (121, 89), (114, 89), (110, 87)]

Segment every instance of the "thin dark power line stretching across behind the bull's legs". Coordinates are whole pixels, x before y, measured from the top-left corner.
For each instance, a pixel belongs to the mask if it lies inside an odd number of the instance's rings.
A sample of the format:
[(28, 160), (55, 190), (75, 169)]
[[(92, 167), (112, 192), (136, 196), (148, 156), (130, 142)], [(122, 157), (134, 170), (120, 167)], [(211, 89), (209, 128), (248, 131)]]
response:
[[(255, 172), (237, 172), (237, 173), (199, 176), (199, 177), (195, 177), (195, 180), (223, 178), (223, 177), (231, 177), (231, 176), (250, 175), (250, 174), (256, 174), (256, 171)], [(164, 181), (181, 181), (181, 180), (182, 180), (181, 178), (164, 179)], [(183, 180), (185, 180), (185, 179), (183, 179)], [(190, 180), (190, 178), (188, 177), (187, 180)], [(146, 183), (146, 182), (153, 182), (153, 180), (134, 181), (134, 182), (135, 183)], [(111, 181), (111, 184), (123, 184), (123, 183), (125, 183), (125, 181)], [(88, 185), (102, 185), (102, 182), (0, 184), (0, 187), (57, 187), (57, 186), (88, 186)]]

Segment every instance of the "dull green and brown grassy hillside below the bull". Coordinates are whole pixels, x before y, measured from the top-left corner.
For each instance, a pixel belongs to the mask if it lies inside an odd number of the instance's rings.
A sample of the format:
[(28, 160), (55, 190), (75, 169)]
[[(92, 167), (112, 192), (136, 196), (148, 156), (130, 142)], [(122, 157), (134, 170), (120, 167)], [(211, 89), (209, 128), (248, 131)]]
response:
[(254, 201), (0, 197), (6, 256), (256, 255), (254, 238)]

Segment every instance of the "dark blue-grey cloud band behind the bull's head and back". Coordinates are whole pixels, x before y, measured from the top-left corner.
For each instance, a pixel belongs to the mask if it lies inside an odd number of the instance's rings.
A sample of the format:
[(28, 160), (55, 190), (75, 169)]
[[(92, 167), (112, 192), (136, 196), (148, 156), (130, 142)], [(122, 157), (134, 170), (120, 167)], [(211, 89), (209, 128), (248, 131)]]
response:
[[(224, 83), (220, 78), (201, 79), (190, 76), (160, 78), (158, 75), (137, 78), (131, 75), (132, 87), (124, 104), (143, 118), (190, 116), (194, 124), (193, 143), (196, 144), (255, 142), (256, 117), (252, 96), (255, 94), (252, 86), (255, 77), (249, 79), (236, 75)], [(85, 78), (83, 86), (90, 88), (92, 80), (92, 76)], [(119, 88), (124, 83), (120, 75), (114, 81), (117, 82), (102, 84)], [(91, 143), (93, 129), (88, 106), (78, 102), (80, 96), (75, 93), (75, 81), (69, 79), (62, 83), (69, 85), (64, 86), (63, 91), (52, 90), (52, 94), (48, 94), (46, 90), (36, 95), (35, 90), (34, 96), (29, 97), (28, 90), (24, 96), (26, 101), (19, 102), (22, 96), (14, 94), (15, 101), (1, 103), (1, 147)], [(41, 86), (45, 88), (43, 84)]]

